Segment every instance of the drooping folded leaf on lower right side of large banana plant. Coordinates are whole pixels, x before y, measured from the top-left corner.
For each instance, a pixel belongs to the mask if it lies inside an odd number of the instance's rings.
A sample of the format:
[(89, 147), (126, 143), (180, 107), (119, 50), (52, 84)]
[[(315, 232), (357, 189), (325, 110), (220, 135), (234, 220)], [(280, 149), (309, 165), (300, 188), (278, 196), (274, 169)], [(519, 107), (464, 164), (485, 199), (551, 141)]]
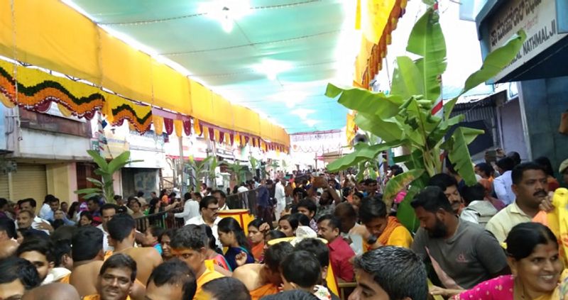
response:
[(483, 133), (484, 130), (464, 127), (458, 127), (452, 133), (452, 148), (449, 149), (448, 158), (468, 186), (476, 184), (477, 180), (467, 145)]

